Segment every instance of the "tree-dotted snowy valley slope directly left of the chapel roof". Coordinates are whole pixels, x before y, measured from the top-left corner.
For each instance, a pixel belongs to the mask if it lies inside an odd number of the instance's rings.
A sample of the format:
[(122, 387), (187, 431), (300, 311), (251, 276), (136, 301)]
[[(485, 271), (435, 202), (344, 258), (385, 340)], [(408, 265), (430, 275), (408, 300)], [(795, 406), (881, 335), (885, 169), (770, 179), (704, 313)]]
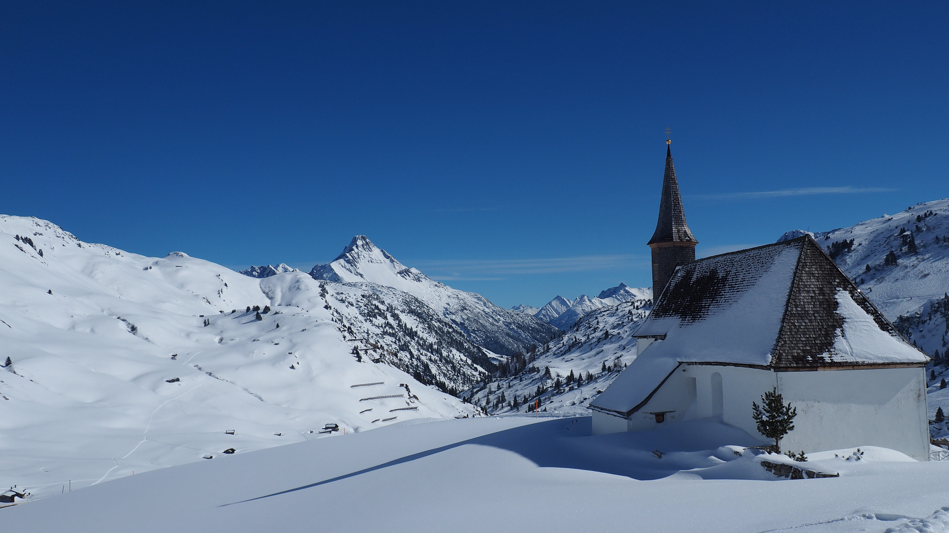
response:
[[(592, 311), (537, 352), (509, 359), (493, 382), (463, 396), (492, 414), (538, 407), (542, 412), (586, 414), (590, 399), (636, 358), (632, 335), (650, 308), (651, 303), (639, 300)], [(581, 381), (567, 383), (571, 372)]]

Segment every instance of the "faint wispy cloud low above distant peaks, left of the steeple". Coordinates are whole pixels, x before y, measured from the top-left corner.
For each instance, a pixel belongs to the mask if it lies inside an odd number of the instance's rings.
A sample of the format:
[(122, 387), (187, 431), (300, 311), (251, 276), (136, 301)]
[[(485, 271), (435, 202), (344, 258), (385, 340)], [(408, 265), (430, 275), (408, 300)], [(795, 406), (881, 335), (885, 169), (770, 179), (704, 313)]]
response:
[(437, 280), (500, 280), (498, 276), (585, 272), (623, 267), (645, 267), (637, 254), (580, 255), (545, 259), (452, 259), (417, 261), (415, 266)]

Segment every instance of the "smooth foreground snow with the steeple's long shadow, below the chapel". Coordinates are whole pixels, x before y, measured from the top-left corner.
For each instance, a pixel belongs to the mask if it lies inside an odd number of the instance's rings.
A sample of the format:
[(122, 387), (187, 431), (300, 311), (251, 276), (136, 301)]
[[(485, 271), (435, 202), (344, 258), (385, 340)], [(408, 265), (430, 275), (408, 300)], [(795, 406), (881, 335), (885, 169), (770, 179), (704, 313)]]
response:
[(711, 420), (608, 435), (591, 435), (589, 416), (415, 423), (129, 476), (0, 509), (0, 521), (76, 533), (949, 528), (949, 462), (828, 450), (803, 465), (840, 477), (778, 481), (761, 461), (788, 458), (752, 444)]

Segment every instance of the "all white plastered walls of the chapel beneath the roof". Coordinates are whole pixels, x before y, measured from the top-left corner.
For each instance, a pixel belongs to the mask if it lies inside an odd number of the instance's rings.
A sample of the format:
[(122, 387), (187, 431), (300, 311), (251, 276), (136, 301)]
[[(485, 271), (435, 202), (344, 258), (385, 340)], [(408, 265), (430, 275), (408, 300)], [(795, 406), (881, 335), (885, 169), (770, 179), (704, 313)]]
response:
[(795, 429), (782, 450), (837, 450), (880, 446), (921, 461), (929, 457), (929, 430), (922, 368), (774, 373), (736, 366), (683, 363), (629, 419), (593, 414), (594, 434), (651, 430), (650, 413), (669, 411), (662, 424), (716, 416), (713, 375), (721, 376), (722, 421), (769, 441), (757, 432), (752, 402), (773, 387), (797, 409)]

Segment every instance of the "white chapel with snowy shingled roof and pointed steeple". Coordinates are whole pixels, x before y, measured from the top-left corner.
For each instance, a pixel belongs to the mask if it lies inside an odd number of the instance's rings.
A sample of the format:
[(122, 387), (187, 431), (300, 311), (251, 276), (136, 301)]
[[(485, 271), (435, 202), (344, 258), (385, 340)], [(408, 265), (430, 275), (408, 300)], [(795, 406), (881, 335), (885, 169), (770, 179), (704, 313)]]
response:
[(929, 458), (925, 365), (810, 235), (695, 260), (666, 150), (649, 241), (655, 303), (637, 358), (597, 396), (593, 432), (716, 418), (767, 443), (752, 403), (796, 408), (782, 450), (879, 446)]

